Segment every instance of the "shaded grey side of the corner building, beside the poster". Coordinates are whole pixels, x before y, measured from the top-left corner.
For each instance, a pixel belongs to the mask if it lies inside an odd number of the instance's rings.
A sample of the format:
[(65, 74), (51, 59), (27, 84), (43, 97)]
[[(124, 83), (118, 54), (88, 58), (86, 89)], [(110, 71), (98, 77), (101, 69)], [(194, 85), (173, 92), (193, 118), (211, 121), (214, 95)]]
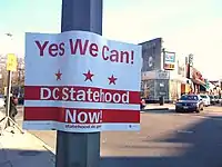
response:
[(140, 43), (142, 46), (141, 95), (150, 100), (160, 96), (169, 99), (169, 76), (162, 71), (162, 38)]

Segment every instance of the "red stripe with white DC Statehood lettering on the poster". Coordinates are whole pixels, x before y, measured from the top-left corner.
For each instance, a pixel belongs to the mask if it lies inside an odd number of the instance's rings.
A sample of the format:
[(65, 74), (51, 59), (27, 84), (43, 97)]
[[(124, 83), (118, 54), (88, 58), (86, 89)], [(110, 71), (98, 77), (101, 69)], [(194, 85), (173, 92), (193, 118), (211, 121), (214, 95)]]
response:
[[(47, 99), (41, 98), (42, 97), (41, 90), (43, 97), (47, 97), (49, 95), (48, 91), (51, 92), (51, 96)], [(73, 90), (74, 92), (71, 94), (70, 90)], [(89, 90), (91, 90), (90, 97), (88, 96)], [(87, 101), (87, 102), (140, 104), (140, 91), (125, 91), (125, 90), (100, 89), (93, 87), (75, 87), (75, 86), (73, 87), (26, 86), (24, 92), (26, 92), (24, 94), (26, 100), (63, 100), (63, 101)], [(68, 98), (65, 98), (64, 94), (69, 95)], [(83, 97), (82, 94), (85, 94), (85, 96)], [(129, 100), (128, 100), (128, 94), (129, 94)]]

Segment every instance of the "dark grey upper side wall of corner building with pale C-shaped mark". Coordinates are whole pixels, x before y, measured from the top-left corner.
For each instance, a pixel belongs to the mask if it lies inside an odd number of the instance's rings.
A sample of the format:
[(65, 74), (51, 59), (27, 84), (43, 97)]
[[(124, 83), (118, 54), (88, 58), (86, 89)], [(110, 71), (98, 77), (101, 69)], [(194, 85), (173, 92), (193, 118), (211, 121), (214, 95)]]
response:
[(140, 43), (142, 46), (142, 72), (161, 69), (162, 38)]

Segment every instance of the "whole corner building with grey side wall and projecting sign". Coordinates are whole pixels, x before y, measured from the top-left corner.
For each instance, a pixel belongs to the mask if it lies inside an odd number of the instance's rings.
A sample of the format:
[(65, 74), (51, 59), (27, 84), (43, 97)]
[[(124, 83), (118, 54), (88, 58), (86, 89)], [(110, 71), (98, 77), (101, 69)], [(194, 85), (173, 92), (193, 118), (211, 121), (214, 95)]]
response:
[[(176, 61), (174, 52), (162, 48), (162, 38), (140, 43), (143, 66), (141, 71), (141, 96), (149, 101), (164, 97), (174, 101), (182, 94), (190, 91), (191, 81), (185, 78), (185, 62)], [(168, 69), (167, 69), (168, 68)]]

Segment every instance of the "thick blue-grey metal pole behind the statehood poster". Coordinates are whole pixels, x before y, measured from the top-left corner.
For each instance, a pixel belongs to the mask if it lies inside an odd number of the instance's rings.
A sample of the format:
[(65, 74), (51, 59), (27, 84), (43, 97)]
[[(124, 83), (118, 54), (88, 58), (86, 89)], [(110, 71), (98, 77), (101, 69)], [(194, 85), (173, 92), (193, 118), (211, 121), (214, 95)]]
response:
[[(62, 0), (61, 31), (102, 35), (102, 0)], [(100, 132), (57, 132), (56, 167), (99, 167)]]

